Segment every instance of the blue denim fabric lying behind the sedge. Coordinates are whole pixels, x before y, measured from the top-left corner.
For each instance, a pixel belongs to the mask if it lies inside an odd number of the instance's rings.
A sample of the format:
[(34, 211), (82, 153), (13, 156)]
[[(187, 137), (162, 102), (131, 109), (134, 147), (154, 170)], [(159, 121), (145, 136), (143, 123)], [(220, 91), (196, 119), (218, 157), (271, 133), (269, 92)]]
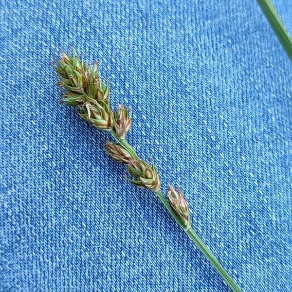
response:
[(292, 291), (292, 63), (252, 0), (0, 0), (0, 291), (229, 291), (57, 104), (70, 44), (242, 291)]

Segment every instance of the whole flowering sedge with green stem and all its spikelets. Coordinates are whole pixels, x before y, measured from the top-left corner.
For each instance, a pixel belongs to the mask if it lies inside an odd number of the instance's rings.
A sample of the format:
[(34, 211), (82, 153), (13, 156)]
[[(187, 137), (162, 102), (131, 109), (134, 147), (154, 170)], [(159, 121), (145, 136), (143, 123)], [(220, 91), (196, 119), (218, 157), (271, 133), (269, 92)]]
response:
[(57, 85), (63, 91), (61, 102), (77, 108), (79, 116), (98, 130), (108, 132), (112, 141), (105, 143), (105, 151), (117, 163), (127, 167), (128, 182), (153, 191), (176, 223), (197, 245), (234, 292), (241, 290), (211, 253), (191, 224), (188, 204), (179, 188), (168, 185), (167, 195), (161, 191), (160, 180), (154, 165), (141, 159), (126, 140), (131, 126), (131, 109), (118, 105), (110, 108), (108, 81), (104, 85), (98, 74), (97, 62), (86, 65), (73, 48), (73, 55), (61, 53), (52, 66), (57, 73)]

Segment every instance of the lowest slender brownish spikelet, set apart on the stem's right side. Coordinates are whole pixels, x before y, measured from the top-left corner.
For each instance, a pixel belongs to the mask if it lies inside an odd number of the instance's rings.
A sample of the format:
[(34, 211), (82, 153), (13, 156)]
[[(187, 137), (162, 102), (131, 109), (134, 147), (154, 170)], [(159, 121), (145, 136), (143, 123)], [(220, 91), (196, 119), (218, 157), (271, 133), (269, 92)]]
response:
[(189, 216), (189, 209), (181, 190), (178, 187), (174, 189), (171, 185), (168, 185), (167, 199), (172, 210), (179, 217), (184, 227), (190, 228), (191, 221)]

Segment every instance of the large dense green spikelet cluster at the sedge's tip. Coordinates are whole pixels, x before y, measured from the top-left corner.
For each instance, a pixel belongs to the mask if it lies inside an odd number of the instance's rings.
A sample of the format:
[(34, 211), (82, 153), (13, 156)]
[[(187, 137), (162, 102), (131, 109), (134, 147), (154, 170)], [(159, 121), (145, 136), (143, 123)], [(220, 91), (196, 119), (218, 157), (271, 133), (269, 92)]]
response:
[(55, 60), (57, 83), (65, 91), (62, 102), (79, 109), (79, 115), (94, 127), (110, 131), (113, 128), (114, 115), (109, 105), (109, 83), (104, 87), (98, 75), (97, 62), (86, 66), (73, 48), (73, 56), (63, 52)]

